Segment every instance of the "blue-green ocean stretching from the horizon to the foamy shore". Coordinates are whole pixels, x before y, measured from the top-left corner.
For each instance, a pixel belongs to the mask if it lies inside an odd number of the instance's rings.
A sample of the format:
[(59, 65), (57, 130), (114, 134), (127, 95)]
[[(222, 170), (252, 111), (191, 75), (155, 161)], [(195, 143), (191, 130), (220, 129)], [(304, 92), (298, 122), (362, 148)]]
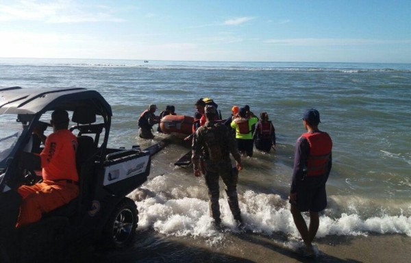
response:
[[(222, 182), (226, 231), (217, 231), (208, 216), (204, 179), (193, 175), (192, 166), (174, 166), (189, 150), (181, 137), (138, 137), (137, 119), (149, 104), (158, 106), (158, 114), (175, 105), (177, 114), (192, 116), (201, 97), (213, 99), (223, 118), (233, 105), (247, 104), (257, 116), (268, 112), (275, 126), (276, 151), (255, 150), (252, 158), (243, 159), (238, 194), (247, 233), (281, 236), (285, 247), (298, 246), (288, 204), (293, 153), (304, 132), (304, 110), (316, 108), (319, 128), (334, 142), (328, 206), (316, 237), (411, 238), (411, 64), (1, 58), (0, 87), (9, 86), (97, 90), (112, 105), (110, 147), (144, 148), (165, 138), (171, 141), (153, 157), (148, 181), (129, 195), (139, 210), (137, 236), (147, 240), (201, 240), (201, 249), (216, 249), (241, 235)], [(137, 241), (135, 249), (167, 250), (162, 242), (147, 240)], [(247, 247), (242, 251), (252, 253)], [(203, 255), (188, 249), (167, 255), (170, 262), (184, 256), (196, 261)]]

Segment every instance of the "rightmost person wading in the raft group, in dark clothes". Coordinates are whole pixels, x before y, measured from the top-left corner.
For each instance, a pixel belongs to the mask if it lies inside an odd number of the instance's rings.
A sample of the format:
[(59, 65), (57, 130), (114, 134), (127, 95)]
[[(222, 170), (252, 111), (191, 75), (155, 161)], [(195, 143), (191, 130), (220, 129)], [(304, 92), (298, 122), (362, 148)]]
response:
[(260, 118), (256, 124), (253, 140), (256, 143), (256, 149), (269, 153), (271, 148), (275, 149), (275, 128), (273, 123), (269, 121), (269, 114), (261, 112)]

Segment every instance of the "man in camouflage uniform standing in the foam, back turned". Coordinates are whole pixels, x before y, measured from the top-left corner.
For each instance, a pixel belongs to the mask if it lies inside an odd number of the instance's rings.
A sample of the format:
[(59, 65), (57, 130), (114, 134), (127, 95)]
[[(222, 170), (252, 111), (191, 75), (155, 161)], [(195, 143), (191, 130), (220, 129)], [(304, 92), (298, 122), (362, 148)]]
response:
[(206, 168), (205, 179), (210, 197), (210, 215), (214, 218), (214, 223), (216, 225), (221, 223), (219, 205), (219, 177), (221, 176), (225, 184), (229, 208), (238, 226), (241, 227), (242, 218), (237, 196), (238, 173), (234, 173), (229, 158), (229, 153), (232, 153), (236, 160), (236, 168), (240, 171), (242, 169), (240, 153), (227, 127), (214, 122), (217, 114), (214, 105), (206, 105), (205, 114), (207, 122), (197, 129), (195, 138), (192, 140), (194, 174), (200, 176), (199, 156), (203, 155)]

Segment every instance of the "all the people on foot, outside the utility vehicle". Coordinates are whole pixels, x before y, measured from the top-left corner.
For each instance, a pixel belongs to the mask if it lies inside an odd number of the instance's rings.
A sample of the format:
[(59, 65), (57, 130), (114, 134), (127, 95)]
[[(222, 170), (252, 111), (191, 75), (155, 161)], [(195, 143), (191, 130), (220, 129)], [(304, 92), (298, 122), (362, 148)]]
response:
[[(244, 225), (236, 190), (238, 171), (242, 170), (240, 153), (252, 156), (254, 142), (262, 151), (275, 149), (274, 126), (266, 112), (262, 112), (259, 119), (248, 105), (242, 108), (234, 105), (232, 116), (225, 121), (221, 121), (221, 113), (216, 110), (218, 105), (212, 99), (199, 99), (195, 106), (197, 112), (192, 134), (185, 138), (192, 140), (194, 175), (204, 175), (210, 198), (210, 216), (216, 227), (221, 227), (219, 178), (223, 179), (229, 208), (238, 228), (242, 229)], [(154, 115), (156, 108), (150, 105), (141, 114), (138, 121), (140, 137), (153, 138), (151, 127), (160, 122), (160, 118)], [(295, 145), (289, 203), (295, 226), (306, 246), (303, 255), (311, 258), (315, 256), (312, 241), (319, 229), (319, 212), (327, 207), (325, 184), (332, 168), (332, 140), (326, 132), (319, 130), (320, 114), (317, 110), (306, 110), (302, 121), (307, 132), (301, 134)], [(234, 167), (230, 153), (236, 161)], [(310, 213), (309, 225), (301, 212)]]

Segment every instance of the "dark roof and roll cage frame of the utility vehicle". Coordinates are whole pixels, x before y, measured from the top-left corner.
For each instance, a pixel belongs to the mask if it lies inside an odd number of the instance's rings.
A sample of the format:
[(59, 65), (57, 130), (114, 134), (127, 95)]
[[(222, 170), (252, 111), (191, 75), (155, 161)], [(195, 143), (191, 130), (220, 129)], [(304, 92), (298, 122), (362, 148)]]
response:
[[(98, 147), (99, 151), (105, 151), (110, 134), (112, 109), (99, 92), (86, 88), (0, 88), (0, 114), (16, 114), (16, 121), (23, 125), (23, 132), (7, 160), (8, 165), (12, 165), (16, 153), (23, 149), (34, 127), (48, 124), (40, 121), (42, 114), (57, 109), (73, 112), (72, 121), (76, 125), (70, 130), (78, 130), (77, 136), (94, 134), (95, 147)], [(102, 123), (95, 123), (96, 116), (102, 117)], [(98, 145), (103, 129), (104, 137)], [(0, 180), (0, 190), (9, 176), (6, 170)]]

